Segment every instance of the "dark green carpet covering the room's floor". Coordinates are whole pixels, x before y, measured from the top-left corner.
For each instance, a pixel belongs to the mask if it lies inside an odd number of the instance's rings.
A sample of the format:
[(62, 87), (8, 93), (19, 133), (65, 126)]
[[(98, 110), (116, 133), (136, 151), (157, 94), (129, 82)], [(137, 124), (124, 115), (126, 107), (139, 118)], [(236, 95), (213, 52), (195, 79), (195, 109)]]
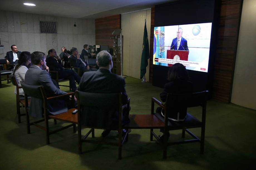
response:
[[(160, 99), (162, 89), (135, 78), (127, 77), (125, 81), (131, 97), (131, 114), (150, 114), (151, 97)], [(83, 143), (83, 154), (79, 155), (77, 133), (72, 133), (72, 128), (50, 135), (49, 145), (45, 131), (39, 128), (32, 126), (28, 135), (24, 116), (18, 124), (14, 86), (2, 83), (0, 169), (255, 169), (255, 110), (210, 100), (206, 111), (205, 154), (199, 153), (199, 143), (180, 144), (169, 146), (167, 159), (163, 160), (161, 146), (156, 140), (149, 141), (149, 130), (132, 130), (129, 141), (123, 145), (122, 160), (118, 160), (118, 148), (108, 145)], [(199, 107), (188, 109), (199, 119), (200, 111)], [(63, 125), (58, 121), (58, 126)], [(54, 128), (53, 121), (50, 128)], [(82, 134), (87, 131), (83, 129)], [(200, 129), (191, 131), (200, 135)], [(96, 139), (100, 139), (101, 132), (95, 131)], [(190, 139), (188, 134), (185, 138)], [(178, 139), (181, 130), (172, 131), (169, 140)], [(117, 132), (112, 131), (106, 140), (117, 141)]]

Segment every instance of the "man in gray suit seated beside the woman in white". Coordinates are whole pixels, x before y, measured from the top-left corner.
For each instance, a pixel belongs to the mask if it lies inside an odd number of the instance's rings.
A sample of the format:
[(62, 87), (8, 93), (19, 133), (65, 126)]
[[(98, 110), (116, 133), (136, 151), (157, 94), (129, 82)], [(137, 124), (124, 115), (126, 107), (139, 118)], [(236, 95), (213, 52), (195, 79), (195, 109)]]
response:
[[(26, 84), (42, 85), (47, 97), (53, 97), (67, 93), (61, 91), (58, 88), (56, 82), (54, 83), (51, 79), (51, 76), (49, 75), (49, 68), (46, 66), (45, 54), (43, 52), (33, 52), (31, 54), (31, 63), (31, 67), (25, 74), (24, 82)], [(31, 97), (29, 115), (33, 117), (42, 117), (42, 108), (43, 101), (41, 99)], [(57, 115), (67, 111), (67, 101), (64, 99), (57, 99), (48, 102), (48, 111), (52, 115)]]

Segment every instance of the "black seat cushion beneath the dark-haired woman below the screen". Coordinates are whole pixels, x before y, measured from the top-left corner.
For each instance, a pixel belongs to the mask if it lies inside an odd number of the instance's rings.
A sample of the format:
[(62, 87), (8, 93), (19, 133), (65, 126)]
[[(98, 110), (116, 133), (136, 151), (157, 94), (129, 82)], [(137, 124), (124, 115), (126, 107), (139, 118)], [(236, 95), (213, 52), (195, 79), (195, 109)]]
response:
[[(154, 113), (154, 115), (164, 122), (164, 117), (161, 113)], [(187, 113), (184, 121), (172, 121), (168, 120), (169, 130), (185, 129), (185, 128), (198, 128), (202, 126), (202, 122), (199, 121), (195, 116)]]

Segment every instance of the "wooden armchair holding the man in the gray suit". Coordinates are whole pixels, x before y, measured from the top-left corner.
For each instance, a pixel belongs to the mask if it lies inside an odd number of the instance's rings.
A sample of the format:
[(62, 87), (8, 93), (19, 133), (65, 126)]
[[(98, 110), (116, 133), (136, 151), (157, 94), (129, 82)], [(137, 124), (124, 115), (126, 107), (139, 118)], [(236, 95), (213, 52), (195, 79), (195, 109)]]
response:
[[(27, 121), (27, 133), (28, 134), (30, 134), (30, 126), (35, 125), (38, 128), (41, 128), (41, 129), (46, 131), (46, 144), (50, 144), (50, 135), (53, 134), (53, 133), (56, 133), (56, 132), (64, 130), (64, 129), (67, 129), (67, 128), (72, 127), (72, 126), (73, 126), (73, 132), (76, 133), (77, 115), (72, 115), (72, 111), (75, 110), (75, 108), (68, 109), (66, 112), (60, 113), (58, 115), (49, 115), (48, 109), (47, 109), (48, 108), (47, 103), (50, 100), (65, 98), (65, 97), (68, 97), (70, 95), (72, 95), (72, 103), (74, 104), (75, 93), (67, 93), (67, 94), (59, 95), (59, 96), (55, 96), (55, 97), (46, 97), (45, 90), (44, 90), (43, 86), (28, 85), (24, 82), (21, 82), (21, 87), (23, 88), (24, 94), (25, 94), (25, 107), (26, 108), (28, 108), (28, 95), (33, 97), (33, 98), (41, 99), (42, 102), (43, 102), (43, 108), (42, 108), (43, 109), (43, 115), (42, 116), (44, 116), (44, 119), (34, 121), (34, 122), (30, 122), (28, 111), (26, 109), (26, 121)], [(38, 108), (38, 109), (40, 109), (40, 108)], [(49, 130), (49, 124), (48, 124), (49, 119), (54, 119), (55, 124), (56, 124), (56, 120), (65, 121), (65, 122), (68, 122), (68, 123), (71, 123), (71, 124), (67, 125), (67, 126), (64, 126), (60, 129), (50, 131)], [(41, 125), (37, 124), (37, 123), (40, 123), (40, 122), (43, 122), (43, 121), (45, 122), (45, 126), (41, 126)]]

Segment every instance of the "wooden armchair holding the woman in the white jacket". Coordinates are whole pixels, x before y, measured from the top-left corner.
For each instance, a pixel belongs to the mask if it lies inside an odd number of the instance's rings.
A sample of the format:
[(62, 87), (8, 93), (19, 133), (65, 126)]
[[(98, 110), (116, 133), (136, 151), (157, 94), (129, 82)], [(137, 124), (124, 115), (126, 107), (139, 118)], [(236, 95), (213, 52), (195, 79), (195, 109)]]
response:
[[(23, 114), (20, 113), (20, 108), (25, 107), (25, 98), (24, 98), (24, 96), (19, 95), (19, 89), (21, 89), (22, 87), (18, 85), (16, 77), (12, 74), (10, 74), (9, 77), (11, 79), (11, 82), (13, 83), (13, 85), (16, 88), (16, 92), (17, 92), (17, 94), (16, 94), (16, 110), (17, 110), (17, 115), (18, 115), (18, 123), (21, 123), (21, 116), (26, 115), (25, 113), (23, 113)], [(30, 99), (28, 99), (28, 105), (30, 105)]]

